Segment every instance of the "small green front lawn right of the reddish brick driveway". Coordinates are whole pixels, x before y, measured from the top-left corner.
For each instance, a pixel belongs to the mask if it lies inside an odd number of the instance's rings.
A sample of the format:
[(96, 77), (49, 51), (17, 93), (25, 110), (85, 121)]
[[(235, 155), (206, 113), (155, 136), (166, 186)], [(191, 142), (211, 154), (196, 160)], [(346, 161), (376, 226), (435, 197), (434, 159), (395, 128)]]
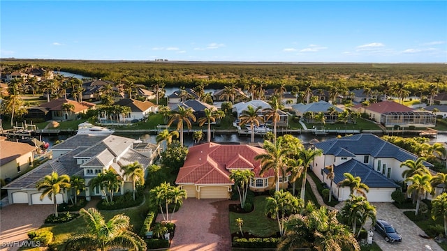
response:
[[(242, 218), (244, 225), (242, 231), (250, 232), (259, 237), (269, 237), (277, 233), (278, 222), (272, 220), (265, 215), (265, 205), (267, 196), (254, 197), (254, 211), (251, 213), (233, 213), (230, 212), (230, 233), (240, 231), (236, 225), (236, 219)], [(235, 201), (238, 204), (238, 201)]]

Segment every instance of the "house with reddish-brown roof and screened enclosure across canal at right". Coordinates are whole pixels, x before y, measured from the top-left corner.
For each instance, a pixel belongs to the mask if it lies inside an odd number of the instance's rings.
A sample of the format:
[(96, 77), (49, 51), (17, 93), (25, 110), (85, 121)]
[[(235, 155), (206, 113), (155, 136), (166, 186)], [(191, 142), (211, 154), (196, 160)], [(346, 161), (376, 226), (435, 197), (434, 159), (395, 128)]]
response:
[(352, 109), (356, 112), (368, 114), (369, 119), (386, 127), (408, 128), (409, 126), (415, 126), (417, 128), (427, 128), (436, 126), (436, 116), (434, 114), (412, 109), (393, 100), (372, 103), (368, 107), (358, 104), (354, 105)]

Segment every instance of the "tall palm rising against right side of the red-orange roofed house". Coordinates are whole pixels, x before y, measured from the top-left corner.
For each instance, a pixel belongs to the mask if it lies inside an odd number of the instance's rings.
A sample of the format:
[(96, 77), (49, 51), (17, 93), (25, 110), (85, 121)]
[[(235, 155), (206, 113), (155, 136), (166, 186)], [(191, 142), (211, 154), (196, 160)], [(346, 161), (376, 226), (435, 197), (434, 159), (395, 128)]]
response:
[(281, 172), (282, 182), (284, 182), (286, 180), (287, 169), (285, 158), (290, 149), (282, 147), (282, 138), (279, 138), (276, 144), (265, 140), (263, 149), (265, 149), (266, 153), (261, 153), (254, 157), (255, 160), (261, 160), (261, 172), (259, 174), (263, 175), (270, 169), (274, 170), (273, 182), (276, 184), (275, 190), (279, 191), (279, 172)]

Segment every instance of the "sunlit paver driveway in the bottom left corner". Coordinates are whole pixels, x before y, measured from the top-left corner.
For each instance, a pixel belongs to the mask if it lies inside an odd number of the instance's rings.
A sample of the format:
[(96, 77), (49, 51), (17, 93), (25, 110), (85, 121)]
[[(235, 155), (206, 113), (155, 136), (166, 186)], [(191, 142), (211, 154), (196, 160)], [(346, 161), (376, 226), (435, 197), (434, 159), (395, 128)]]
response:
[(26, 241), (27, 233), (41, 227), (45, 218), (52, 213), (54, 213), (53, 205), (12, 204), (1, 208), (0, 250), (17, 250), (17, 245), (6, 248), (6, 243)]

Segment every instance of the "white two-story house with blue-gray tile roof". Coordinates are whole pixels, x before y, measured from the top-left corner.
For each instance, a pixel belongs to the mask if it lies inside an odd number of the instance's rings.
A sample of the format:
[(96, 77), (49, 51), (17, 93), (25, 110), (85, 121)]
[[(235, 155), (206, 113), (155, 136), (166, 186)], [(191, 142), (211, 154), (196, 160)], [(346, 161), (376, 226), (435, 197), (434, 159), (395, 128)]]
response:
[[(384, 141), (373, 134), (358, 134), (342, 138), (328, 139), (314, 144), (323, 151), (312, 163), (312, 172), (330, 187), (332, 195), (338, 201), (349, 199), (349, 188), (337, 186), (348, 172), (359, 176), (362, 183), (369, 186), (368, 201), (392, 202), (391, 193), (400, 187), (396, 182), (403, 181), (402, 172), (408, 167), (400, 167), (406, 160), (417, 160), (418, 157), (409, 151)], [(335, 178), (328, 179), (326, 166), (333, 165)], [(433, 165), (424, 162), (427, 168)]]

